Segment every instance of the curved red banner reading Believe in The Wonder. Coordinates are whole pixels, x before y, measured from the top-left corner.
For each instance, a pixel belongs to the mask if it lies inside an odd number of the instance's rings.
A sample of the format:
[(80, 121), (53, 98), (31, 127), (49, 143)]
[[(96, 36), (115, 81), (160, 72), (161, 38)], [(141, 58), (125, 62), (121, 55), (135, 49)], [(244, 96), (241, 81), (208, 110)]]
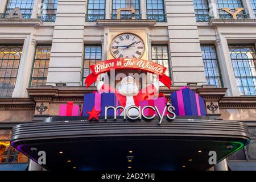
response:
[(86, 88), (88, 88), (88, 86), (92, 85), (93, 82), (97, 80), (98, 75), (101, 73), (109, 72), (110, 69), (139, 69), (141, 71), (158, 74), (159, 81), (161, 81), (169, 89), (171, 86), (170, 77), (164, 75), (167, 68), (163, 65), (142, 59), (118, 58), (91, 65), (90, 70), (92, 73), (85, 79)]

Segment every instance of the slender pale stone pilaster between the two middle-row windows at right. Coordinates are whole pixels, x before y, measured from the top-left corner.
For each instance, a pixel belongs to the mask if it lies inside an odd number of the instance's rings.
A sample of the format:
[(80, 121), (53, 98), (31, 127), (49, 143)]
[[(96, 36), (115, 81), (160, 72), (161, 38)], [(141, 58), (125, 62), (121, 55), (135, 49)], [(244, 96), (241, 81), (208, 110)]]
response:
[(217, 49), (218, 60), (220, 64), (221, 76), (225, 88), (228, 88), (228, 96), (240, 96), (234, 76), (233, 65), (229, 53), (229, 46), (226, 38), (218, 33), (218, 40), (214, 43)]

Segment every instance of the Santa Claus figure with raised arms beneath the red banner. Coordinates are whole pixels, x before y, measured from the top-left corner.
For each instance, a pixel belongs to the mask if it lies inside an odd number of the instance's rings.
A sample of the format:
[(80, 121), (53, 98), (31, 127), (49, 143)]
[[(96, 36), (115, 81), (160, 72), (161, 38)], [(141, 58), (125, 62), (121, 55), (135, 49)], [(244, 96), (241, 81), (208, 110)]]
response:
[[(119, 101), (119, 105), (125, 107), (129, 106), (139, 106), (140, 101), (154, 99), (158, 96), (159, 84), (158, 82), (153, 82), (151, 85), (143, 88), (141, 90), (138, 89), (136, 81), (133, 77), (127, 76), (122, 79), (121, 84), (117, 89), (111, 88), (109, 85), (104, 84), (103, 81), (97, 79), (97, 89), (98, 92), (114, 92), (117, 96), (117, 100)], [(130, 109), (129, 115), (138, 115), (139, 111), (137, 109)], [(121, 110), (121, 115), (123, 115), (123, 111)]]

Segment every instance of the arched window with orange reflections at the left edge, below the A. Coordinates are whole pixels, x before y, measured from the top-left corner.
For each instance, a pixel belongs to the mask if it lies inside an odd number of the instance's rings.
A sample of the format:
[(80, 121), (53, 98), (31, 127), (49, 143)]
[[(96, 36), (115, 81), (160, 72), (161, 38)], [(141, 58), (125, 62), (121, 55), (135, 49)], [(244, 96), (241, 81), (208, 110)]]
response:
[(22, 46), (0, 46), (0, 97), (11, 97), (21, 55)]

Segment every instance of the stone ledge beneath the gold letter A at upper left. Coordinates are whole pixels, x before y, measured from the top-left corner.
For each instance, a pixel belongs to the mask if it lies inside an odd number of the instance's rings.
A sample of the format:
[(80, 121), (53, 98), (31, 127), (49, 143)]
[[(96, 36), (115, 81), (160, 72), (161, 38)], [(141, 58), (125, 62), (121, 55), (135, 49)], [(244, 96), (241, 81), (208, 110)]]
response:
[(11, 26), (42, 26), (43, 22), (39, 18), (3, 18), (0, 19), (0, 25), (11, 25)]

